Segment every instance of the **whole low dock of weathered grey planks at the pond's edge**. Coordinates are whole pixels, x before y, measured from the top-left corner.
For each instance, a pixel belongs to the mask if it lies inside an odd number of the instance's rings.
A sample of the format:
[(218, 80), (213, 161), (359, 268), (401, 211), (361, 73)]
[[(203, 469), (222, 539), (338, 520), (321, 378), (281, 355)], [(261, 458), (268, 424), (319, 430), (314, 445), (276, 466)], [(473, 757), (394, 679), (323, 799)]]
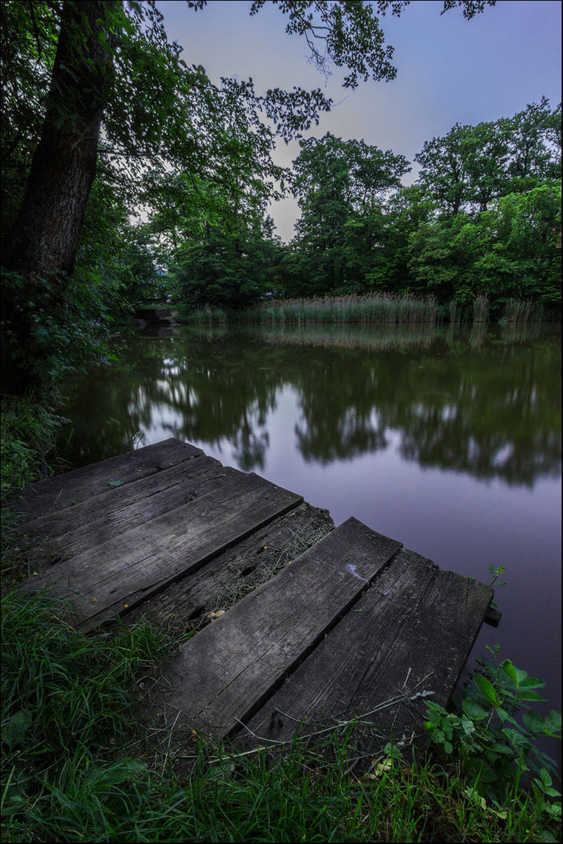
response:
[[(198, 620), (155, 710), (248, 744), (348, 728), (375, 754), (445, 705), (493, 590), (170, 439), (25, 490), (31, 571), (84, 631)], [(259, 585), (257, 585), (259, 584)], [(221, 612), (221, 610), (225, 610)]]

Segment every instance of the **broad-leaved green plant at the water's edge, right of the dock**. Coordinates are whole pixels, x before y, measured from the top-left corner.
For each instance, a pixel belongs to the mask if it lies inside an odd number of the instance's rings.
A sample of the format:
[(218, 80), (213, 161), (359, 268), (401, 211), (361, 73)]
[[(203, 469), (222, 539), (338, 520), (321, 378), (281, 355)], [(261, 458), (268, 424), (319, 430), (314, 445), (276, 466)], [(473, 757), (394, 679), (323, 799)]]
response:
[[(545, 791), (551, 787), (549, 770), (556, 766), (536, 744), (542, 734), (561, 737), (560, 712), (542, 716), (533, 709), (535, 701), (545, 700), (536, 691), (544, 681), (528, 677), (509, 659), (499, 664), (498, 647), (490, 650), (494, 658), (479, 660), (482, 669), (473, 673), (456, 711), (426, 701), (430, 742), (446, 757), (455, 755), (470, 787), (485, 797), (506, 799), (528, 771), (536, 793), (560, 797), (555, 789)], [(548, 802), (545, 810), (555, 816), (560, 805)]]

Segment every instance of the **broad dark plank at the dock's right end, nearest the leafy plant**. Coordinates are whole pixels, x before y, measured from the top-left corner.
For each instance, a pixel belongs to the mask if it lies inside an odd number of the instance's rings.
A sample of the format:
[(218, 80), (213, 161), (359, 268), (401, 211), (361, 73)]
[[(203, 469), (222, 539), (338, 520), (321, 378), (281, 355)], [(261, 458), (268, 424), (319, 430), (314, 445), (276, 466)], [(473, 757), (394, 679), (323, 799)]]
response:
[(447, 704), (492, 596), (491, 587), (400, 552), (246, 722), (242, 744), (257, 736), (288, 741), (298, 727), (309, 735), (360, 716), (350, 752), (355, 745), (377, 755), (389, 738), (410, 741), (424, 733), (425, 707), (414, 695), (431, 692), (429, 700)]

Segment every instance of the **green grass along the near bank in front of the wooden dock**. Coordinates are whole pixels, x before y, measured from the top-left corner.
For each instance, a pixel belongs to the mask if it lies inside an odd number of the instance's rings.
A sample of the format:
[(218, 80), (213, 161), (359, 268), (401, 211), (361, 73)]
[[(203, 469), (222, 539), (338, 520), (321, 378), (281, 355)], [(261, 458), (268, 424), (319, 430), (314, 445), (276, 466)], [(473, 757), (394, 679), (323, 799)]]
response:
[(485, 801), (452, 763), (389, 749), (354, 776), (345, 738), (273, 755), (150, 735), (136, 691), (178, 640), (144, 619), (84, 636), (64, 609), (3, 599), (3, 841), (558, 840), (532, 795)]

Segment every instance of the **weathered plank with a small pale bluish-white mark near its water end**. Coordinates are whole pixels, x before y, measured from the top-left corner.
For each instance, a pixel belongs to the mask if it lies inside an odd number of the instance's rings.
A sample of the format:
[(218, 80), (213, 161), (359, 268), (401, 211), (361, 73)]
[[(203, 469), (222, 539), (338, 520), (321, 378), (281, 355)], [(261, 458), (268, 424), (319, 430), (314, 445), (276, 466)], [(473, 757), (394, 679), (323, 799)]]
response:
[(205, 628), (165, 670), (161, 705), (225, 737), (337, 622), (401, 547), (351, 518)]

